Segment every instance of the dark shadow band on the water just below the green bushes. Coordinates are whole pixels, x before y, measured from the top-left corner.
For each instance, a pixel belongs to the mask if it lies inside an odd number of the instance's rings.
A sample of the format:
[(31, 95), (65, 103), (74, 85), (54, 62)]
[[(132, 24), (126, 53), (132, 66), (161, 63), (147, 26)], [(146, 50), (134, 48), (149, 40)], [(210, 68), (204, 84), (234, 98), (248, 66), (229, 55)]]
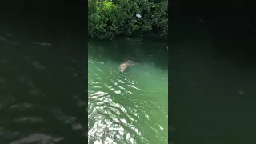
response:
[[(92, 47), (90, 47), (92, 46)], [(168, 69), (167, 43), (138, 38), (117, 38), (112, 41), (89, 40), (89, 56), (122, 63), (134, 57), (134, 62), (154, 62), (159, 68)]]

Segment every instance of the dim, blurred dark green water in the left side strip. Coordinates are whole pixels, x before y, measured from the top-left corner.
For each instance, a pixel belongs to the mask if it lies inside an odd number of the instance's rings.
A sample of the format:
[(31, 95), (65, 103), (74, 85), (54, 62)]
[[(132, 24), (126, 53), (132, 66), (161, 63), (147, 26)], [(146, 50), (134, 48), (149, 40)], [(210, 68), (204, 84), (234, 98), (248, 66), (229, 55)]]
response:
[(0, 143), (85, 142), (86, 43), (49, 35), (1, 26)]

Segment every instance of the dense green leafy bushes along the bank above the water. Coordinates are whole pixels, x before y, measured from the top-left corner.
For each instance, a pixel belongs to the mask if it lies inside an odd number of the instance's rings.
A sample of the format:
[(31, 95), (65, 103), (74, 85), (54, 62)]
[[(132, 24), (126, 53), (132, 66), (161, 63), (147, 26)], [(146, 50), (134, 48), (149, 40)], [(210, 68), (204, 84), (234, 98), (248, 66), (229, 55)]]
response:
[(89, 0), (88, 9), (88, 32), (93, 38), (111, 39), (136, 31), (168, 33), (167, 0)]

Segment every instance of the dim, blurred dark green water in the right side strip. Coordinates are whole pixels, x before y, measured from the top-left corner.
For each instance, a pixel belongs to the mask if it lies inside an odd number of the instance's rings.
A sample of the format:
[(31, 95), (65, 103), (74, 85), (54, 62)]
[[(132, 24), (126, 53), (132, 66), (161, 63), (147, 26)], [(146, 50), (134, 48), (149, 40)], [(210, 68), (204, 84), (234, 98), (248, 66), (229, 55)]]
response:
[(255, 42), (230, 17), (191, 15), (178, 17), (170, 42), (171, 141), (254, 143)]

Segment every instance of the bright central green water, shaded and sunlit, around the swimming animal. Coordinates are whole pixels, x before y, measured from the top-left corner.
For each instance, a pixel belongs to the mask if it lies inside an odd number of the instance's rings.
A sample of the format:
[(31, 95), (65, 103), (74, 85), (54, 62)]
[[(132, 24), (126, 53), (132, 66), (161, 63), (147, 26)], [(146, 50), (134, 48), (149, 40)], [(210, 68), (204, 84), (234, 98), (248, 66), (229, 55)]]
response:
[[(166, 43), (127, 38), (88, 45), (89, 143), (167, 143)], [(129, 57), (135, 65), (120, 73)]]

